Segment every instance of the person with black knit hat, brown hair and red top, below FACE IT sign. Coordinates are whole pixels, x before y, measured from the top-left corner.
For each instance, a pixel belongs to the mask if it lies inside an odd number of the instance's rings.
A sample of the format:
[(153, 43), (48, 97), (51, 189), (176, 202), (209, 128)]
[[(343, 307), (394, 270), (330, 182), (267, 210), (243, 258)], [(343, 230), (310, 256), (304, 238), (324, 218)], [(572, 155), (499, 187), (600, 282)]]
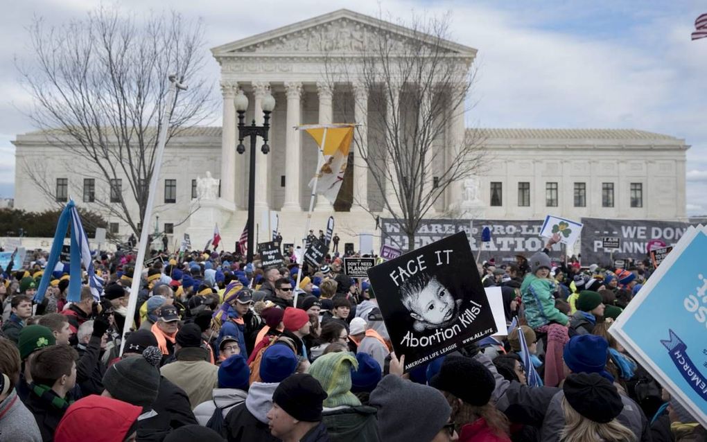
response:
[(448, 355), (430, 385), (443, 392), (452, 407), (450, 419), (459, 429), (460, 440), (510, 442), (508, 419), (491, 402), (496, 380), (484, 364)]

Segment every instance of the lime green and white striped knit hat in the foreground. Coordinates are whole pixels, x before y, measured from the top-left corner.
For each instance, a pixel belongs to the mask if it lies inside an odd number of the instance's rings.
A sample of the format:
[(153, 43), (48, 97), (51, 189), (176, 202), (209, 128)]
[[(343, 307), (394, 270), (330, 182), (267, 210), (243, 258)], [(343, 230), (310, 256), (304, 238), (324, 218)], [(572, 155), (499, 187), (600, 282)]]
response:
[(308, 373), (322, 384), (327, 392), (324, 406), (329, 408), (361, 405), (351, 392), (351, 367), (358, 370), (358, 361), (348, 351), (338, 351), (319, 356), (312, 362)]

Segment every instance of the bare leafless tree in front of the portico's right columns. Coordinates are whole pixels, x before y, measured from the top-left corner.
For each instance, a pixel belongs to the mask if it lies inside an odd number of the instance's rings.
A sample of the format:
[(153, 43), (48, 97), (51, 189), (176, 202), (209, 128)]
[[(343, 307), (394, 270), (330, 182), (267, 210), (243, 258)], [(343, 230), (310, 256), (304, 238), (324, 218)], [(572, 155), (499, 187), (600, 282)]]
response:
[[(399, 23), (395, 32), (364, 31), (355, 57), (325, 51), (324, 75), (332, 85), (353, 84), (352, 95), (356, 90), (367, 93), (368, 107), (380, 111), (366, 127), (366, 142), (361, 133), (355, 137), (356, 155), (372, 171), (380, 191), (374, 204), (407, 236), (407, 245), (399, 246), (412, 250), (421, 220), (450, 186), (479, 172), (484, 150), (479, 131), (464, 129), (457, 139), (448, 132), (453, 120), (463, 122), (471, 107), (467, 95), (475, 74), (468, 54), (450, 50), (448, 16)], [(342, 110), (350, 112), (358, 105), (354, 102), (344, 103)], [(379, 216), (355, 197), (354, 203)]]

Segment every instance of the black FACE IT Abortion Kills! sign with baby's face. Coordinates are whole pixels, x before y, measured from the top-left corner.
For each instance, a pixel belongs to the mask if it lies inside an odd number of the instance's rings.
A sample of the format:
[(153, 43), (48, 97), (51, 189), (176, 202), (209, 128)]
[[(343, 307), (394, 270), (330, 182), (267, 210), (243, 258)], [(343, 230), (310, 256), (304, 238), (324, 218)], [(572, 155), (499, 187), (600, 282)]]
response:
[(404, 371), (496, 332), (465, 232), (368, 270)]

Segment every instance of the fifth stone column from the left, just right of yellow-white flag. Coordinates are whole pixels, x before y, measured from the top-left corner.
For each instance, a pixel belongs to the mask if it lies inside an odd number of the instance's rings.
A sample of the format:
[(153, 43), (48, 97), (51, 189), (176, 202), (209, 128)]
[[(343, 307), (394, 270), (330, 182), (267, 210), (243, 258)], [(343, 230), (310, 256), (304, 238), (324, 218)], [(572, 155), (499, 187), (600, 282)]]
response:
[(368, 209), (368, 164), (363, 155), (368, 156), (368, 88), (366, 84), (354, 83), (354, 120), (357, 141), (354, 143), (354, 203), (351, 211)]

